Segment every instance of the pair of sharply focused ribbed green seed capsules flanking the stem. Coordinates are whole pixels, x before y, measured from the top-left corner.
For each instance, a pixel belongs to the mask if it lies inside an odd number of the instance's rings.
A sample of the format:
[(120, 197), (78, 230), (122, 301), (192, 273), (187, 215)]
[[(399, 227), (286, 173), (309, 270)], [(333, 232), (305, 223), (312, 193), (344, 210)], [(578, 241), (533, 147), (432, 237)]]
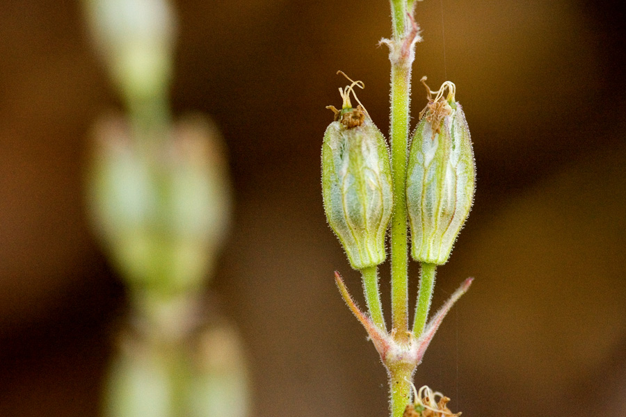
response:
[[(324, 133), (322, 189), (328, 223), (352, 267), (362, 270), (385, 261), (394, 194), (387, 142), (355, 95), (355, 86), (364, 88), (363, 83), (350, 81), (339, 88), (342, 109), (328, 106), (335, 121)], [(428, 105), (410, 138), (406, 208), (412, 258), (442, 265), (470, 213), (476, 173), (470, 130), (455, 101), (456, 86), (446, 81), (437, 92), (427, 85), (426, 90)]]

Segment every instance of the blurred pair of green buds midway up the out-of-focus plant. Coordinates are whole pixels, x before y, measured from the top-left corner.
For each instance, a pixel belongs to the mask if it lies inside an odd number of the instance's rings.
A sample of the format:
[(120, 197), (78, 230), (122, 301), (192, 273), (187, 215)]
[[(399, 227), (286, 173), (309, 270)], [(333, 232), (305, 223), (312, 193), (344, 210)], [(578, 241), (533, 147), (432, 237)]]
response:
[(129, 284), (176, 293), (202, 286), (230, 218), (220, 136), (200, 117), (171, 140), (133, 140), (121, 118), (96, 131), (88, 204), (98, 237)]

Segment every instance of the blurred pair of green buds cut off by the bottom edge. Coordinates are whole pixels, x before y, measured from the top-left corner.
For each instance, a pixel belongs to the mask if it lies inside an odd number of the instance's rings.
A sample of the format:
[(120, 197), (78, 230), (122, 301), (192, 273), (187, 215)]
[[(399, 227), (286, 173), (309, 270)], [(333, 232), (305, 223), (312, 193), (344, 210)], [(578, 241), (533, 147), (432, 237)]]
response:
[(248, 414), (239, 332), (224, 320), (206, 320), (195, 301), (175, 300), (164, 323), (137, 316), (127, 325), (106, 380), (106, 417)]

